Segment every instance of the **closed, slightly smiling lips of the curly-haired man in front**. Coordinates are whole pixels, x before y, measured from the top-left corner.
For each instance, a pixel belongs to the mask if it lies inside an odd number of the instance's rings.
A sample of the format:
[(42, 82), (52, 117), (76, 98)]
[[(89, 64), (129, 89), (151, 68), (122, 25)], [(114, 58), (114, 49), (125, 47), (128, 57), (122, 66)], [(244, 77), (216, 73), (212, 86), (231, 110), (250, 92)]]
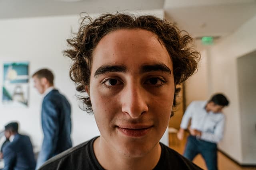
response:
[(117, 126), (117, 129), (122, 132), (122, 134), (128, 137), (143, 137), (149, 133), (153, 126), (143, 127), (143, 128), (124, 128)]

